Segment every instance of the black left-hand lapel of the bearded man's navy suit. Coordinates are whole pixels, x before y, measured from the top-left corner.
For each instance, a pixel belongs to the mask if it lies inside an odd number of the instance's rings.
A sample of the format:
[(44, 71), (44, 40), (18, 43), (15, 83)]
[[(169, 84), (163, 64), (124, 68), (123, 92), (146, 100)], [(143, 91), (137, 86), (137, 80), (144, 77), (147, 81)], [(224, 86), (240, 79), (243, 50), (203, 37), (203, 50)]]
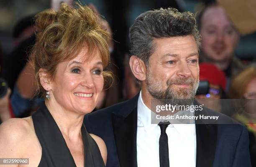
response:
[(121, 167), (137, 167), (137, 107), (128, 116), (112, 114), (113, 132)]

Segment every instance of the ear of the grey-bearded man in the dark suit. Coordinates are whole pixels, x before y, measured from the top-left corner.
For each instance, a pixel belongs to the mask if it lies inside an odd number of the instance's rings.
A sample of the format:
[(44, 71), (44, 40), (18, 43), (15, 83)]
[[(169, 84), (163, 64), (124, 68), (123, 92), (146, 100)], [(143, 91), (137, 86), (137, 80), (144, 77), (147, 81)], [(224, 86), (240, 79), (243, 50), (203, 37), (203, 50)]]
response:
[(146, 80), (146, 65), (140, 58), (138, 58), (137, 56), (131, 56), (129, 64), (133, 75), (138, 80)]

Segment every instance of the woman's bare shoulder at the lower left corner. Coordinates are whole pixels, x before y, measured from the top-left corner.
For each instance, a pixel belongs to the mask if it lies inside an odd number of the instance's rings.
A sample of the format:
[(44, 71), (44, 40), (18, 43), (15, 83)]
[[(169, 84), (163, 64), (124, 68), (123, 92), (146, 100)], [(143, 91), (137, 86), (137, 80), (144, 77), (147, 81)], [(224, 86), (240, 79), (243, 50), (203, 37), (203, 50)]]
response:
[(41, 145), (36, 137), (31, 116), (8, 119), (0, 125), (0, 157), (29, 158), (29, 165), (38, 166)]

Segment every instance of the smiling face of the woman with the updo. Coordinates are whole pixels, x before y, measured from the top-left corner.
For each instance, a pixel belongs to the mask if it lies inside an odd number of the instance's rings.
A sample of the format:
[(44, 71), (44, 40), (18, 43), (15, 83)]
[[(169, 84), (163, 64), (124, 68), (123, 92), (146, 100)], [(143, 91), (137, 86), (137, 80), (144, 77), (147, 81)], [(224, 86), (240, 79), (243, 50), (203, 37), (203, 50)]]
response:
[(59, 107), (80, 114), (90, 113), (103, 89), (103, 65), (99, 51), (88, 58), (87, 49), (71, 61), (58, 64), (51, 81), (51, 99)]

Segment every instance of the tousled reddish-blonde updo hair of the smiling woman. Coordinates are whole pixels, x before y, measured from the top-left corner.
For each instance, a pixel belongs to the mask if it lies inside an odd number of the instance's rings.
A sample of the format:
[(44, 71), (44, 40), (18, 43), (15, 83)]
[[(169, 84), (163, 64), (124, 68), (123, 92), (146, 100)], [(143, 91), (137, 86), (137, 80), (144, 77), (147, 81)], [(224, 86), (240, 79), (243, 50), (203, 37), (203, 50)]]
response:
[[(47, 9), (35, 16), (36, 44), (30, 56), (35, 70), (36, 92), (46, 91), (40, 84), (39, 69), (43, 68), (54, 79), (56, 67), (63, 61), (75, 58), (82, 48), (87, 47), (88, 55), (96, 49), (102, 56), (103, 67), (110, 61), (108, 40), (110, 35), (97, 23), (95, 13), (87, 6), (76, 4), (75, 8), (61, 3), (59, 11)], [(112, 74), (103, 71), (105, 86), (112, 83)]]

